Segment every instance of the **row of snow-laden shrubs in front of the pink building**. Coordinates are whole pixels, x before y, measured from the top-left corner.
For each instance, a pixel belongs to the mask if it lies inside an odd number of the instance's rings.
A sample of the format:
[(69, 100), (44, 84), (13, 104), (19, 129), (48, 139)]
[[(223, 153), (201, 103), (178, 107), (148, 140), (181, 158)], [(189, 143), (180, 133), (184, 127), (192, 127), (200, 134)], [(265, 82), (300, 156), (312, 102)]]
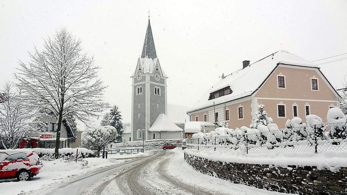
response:
[[(316, 115), (307, 115), (306, 122), (301, 118), (293, 118), (286, 121), (286, 128), (279, 129), (277, 124), (267, 123), (266, 112), (264, 120), (258, 120), (257, 125), (251, 125), (251, 128), (242, 126), (241, 128), (229, 129), (219, 127), (210, 133), (193, 134), (193, 139), (187, 142), (192, 146), (212, 146), (212, 147), (230, 147), (231, 149), (243, 149), (246, 146), (258, 147), (266, 146), (268, 149), (274, 147), (287, 147), (300, 144), (310, 146), (317, 144), (318, 141), (327, 139), (346, 139), (346, 117), (338, 108), (332, 108), (328, 112), (328, 122), (338, 122), (334, 124), (324, 124), (322, 119)], [(263, 116), (260, 115), (260, 116)], [(256, 127), (256, 128), (254, 128)], [(326, 129), (330, 130), (326, 133)], [(330, 141), (329, 141), (330, 142)], [(331, 141), (333, 142), (333, 141)], [(339, 144), (339, 143), (338, 143)], [(335, 144), (335, 145), (338, 145)]]

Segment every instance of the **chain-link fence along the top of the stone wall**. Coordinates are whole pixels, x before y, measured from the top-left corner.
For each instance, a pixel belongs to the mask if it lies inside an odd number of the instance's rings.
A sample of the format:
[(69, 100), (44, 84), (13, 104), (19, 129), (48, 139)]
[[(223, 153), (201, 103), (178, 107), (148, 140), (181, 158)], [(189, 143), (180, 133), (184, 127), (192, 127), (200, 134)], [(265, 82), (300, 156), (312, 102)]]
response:
[(341, 151), (347, 150), (347, 125), (345, 122), (298, 125), (252, 134), (192, 138), (187, 139), (187, 148), (222, 152), (240, 149), (247, 154)]

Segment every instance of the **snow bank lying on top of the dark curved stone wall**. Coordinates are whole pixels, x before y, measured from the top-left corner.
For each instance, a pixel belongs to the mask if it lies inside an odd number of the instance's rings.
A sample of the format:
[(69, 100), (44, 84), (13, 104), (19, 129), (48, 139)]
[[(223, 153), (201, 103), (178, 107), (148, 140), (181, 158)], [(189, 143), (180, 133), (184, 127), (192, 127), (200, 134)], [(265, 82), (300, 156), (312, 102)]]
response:
[(296, 166), (317, 166), (318, 169), (332, 167), (347, 167), (347, 151), (326, 151), (320, 154), (311, 152), (293, 152), (279, 154), (243, 154), (240, 150), (229, 152), (225, 155), (218, 151), (198, 151), (195, 149), (185, 149), (188, 155), (194, 155), (213, 161), (253, 163), (253, 164), (274, 164), (275, 166), (287, 167)]

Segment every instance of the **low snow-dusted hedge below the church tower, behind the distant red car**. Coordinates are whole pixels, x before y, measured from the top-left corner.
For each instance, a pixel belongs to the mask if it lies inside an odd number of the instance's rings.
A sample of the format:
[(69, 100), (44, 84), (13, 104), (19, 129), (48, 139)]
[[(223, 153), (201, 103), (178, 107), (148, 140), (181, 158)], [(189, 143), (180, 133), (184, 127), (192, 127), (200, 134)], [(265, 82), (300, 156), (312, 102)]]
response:
[(108, 145), (108, 148), (117, 148), (117, 147), (142, 147), (144, 150), (160, 150), (163, 148), (163, 145), (169, 143), (174, 144), (177, 147), (182, 147), (182, 139), (152, 139), (143, 141), (131, 141), (125, 143), (111, 143)]

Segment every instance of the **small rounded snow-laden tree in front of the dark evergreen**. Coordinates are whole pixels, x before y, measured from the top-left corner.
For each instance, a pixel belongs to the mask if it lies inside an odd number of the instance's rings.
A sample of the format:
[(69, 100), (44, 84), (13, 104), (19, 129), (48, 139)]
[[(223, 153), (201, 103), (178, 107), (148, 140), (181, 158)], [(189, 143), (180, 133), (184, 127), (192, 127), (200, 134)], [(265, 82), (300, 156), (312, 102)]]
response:
[(88, 128), (82, 133), (81, 145), (94, 150), (99, 156), (100, 151), (118, 135), (117, 129), (109, 125)]

